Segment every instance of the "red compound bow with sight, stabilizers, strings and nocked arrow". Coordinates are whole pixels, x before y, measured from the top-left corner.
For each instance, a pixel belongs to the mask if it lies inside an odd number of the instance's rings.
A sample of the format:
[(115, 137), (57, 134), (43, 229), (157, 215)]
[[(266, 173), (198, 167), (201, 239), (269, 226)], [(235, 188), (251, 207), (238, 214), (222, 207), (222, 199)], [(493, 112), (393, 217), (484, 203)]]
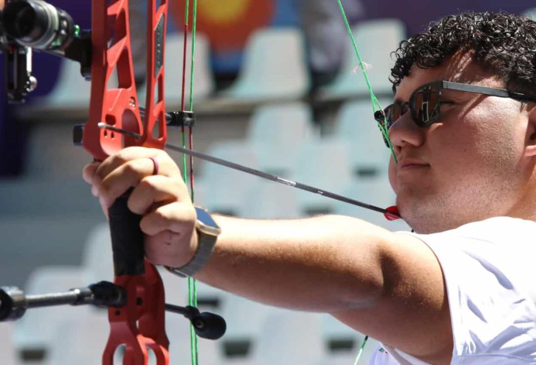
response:
[[(193, 35), (195, 42), (196, 0), (193, 0)], [(343, 6), (338, 0), (346, 21)], [(185, 11), (184, 51), (188, 32), (188, 4)], [(192, 156), (204, 158), (257, 176), (282, 182), (333, 199), (384, 213), (398, 218), (396, 207), (382, 209), (344, 198), (343, 196), (310, 187), (299, 182), (272, 176), (218, 158), (199, 154), (184, 148), (184, 127), (189, 127), (190, 150), (195, 115), (192, 111), (193, 84), (190, 85), (190, 109), (184, 107), (185, 57), (183, 68), (183, 99), (180, 112), (166, 113), (164, 95), (165, 41), (168, 0), (148, 0), (147, 4), (147, 92), (145, 107), (139, 106), (130, 44), (128, 0), (92, 0), (92, 30), (80, 31), (66, 12), (43, 0), (11, 0), (3, 11), (2, 47), (6, 60), (13, 68), (13, 79), (6, 85), (12, 101), (23, 100), (35, 88), (35, 78), (28, 67), (32, 48), (44, 50), (80, 62), (81, 73), (91, 79), (91, 99), (88, 122), (75, 128), (75, 142), (81, 143), (95, 160), (102, 161), (124, 147), (143, 146), (163, 149), (167, 142), (167, 126), (181, 126), (183, 147), (173, 149), (190, 155), (190, 187), (193, 199)], [(41, 27), (41, 23), (47, 24)], [(47, 23), (48, 22), (48, 23)], [(50, 26), (50, 24), (54, 24)], [(348, 26), (348, 23), (346, 21)], [(348, 26), (349, 30), (349, 26)], [(351, 37), (352, 33), (349, 32)], [(352, 37), (353, 38), (353, 37)], [(361, 57), (353, 41), (360, 65)], [(193, 52), (192, 69), (193, 81)], [(13, 64), (16, 67), (13, 67)], [(367, 83), (366, 71), (362, 67)], [(117, 71), (118, 86), (110, 87), (110, 79)], [(370, 90), (370, 84), (369, 90)], [(371, 92), (373, 109), (379, 104)], [(381, 108), (379, 108), (381, 111)], [(385, 124), (378, 123), (389, 141)], [(183, 164), (184, 172), (186, 164)], [(186, 179), (186, 177), (185, 177)], [(190, 305), (178, 307), (165, 303), (164, 288), (157, 269), (144, 259), (143, 232), (139, 228), (141, 216), (126, 206), (130, 192), (118, 198), (109, 209), (109, 223), (114, 257), (114, 283), (100, 282), (87, 288), (72, 289), (66, 293), (24, 295), (19, 289), (2, 287), (0, 290), (0, 320), (18, 319), (28, 308), (58, 304), (96, 304), (108, 306), (110, 334), (103, 353), (103, 365), (113, 364), (118, 346), (125, 345), (124, 364), (146, 365), (147, 350), (151, 349), (158, 365), (169, 363), (164, 318), (165, 311), (182, 313), (192, 323), (192, 363), (197, 363), (195, 333), (216, 339), (225, 332), (224, 320), (212, 313), (199, 313), (195, 291), (190, 290)], [(190, 280), (195, 288), (195, 281)], [(193, 294), (192, 294), (193, 293)]]

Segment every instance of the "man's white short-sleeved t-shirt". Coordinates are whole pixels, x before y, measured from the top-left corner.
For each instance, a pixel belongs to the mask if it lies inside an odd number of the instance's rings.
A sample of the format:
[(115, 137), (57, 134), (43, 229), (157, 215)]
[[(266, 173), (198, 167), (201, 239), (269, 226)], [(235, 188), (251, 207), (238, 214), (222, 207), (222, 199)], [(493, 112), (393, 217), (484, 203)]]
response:
[[(409, 233), (443, 269), (454, 349), (451, 365), (536, 364), (536, 223), (494, 217), (431, 235)], [(426, 365), (384, 346), (369, 365)]]

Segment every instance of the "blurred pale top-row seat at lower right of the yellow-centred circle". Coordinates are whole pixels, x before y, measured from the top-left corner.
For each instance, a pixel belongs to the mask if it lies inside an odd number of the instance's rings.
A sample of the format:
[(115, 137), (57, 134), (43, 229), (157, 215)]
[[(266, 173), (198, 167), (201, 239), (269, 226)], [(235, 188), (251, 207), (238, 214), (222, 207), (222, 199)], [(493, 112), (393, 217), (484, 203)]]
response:
[(223, 94), (244, 101), (292, 100), (305, 96), (308, 87), (301, 31), (265, 28), (248, 40), (239, 77)]

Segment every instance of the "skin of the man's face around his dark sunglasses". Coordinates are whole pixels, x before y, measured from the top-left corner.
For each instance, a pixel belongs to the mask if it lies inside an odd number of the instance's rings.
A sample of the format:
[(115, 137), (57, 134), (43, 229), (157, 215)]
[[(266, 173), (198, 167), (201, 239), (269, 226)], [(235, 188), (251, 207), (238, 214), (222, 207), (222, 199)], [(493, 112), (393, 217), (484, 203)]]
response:
[[(408, 101), (419, 86), (438, 80), (492, 87), (502, 81), (458, 57), (430, 69), (413, 68), (395, 100)], [(527, 106), (518, 100), (442, 90), (441, 118), (420, 128), (407, 112), (389, 135), (398, 159), (389, 179), (401, 216), (416, 231), (438, 232), (520, 209), (532, 159)], [(533, 106), (534, 103), (529, 103)], [(525, 202), (526, 203), (526, 202)]]

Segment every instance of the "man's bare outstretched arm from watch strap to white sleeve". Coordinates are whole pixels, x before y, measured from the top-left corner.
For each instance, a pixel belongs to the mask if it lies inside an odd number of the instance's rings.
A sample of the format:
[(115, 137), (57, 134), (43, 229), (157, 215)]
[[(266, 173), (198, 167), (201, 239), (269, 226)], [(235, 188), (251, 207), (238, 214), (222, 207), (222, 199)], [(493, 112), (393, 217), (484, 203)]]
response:
[(441, 267), (418, 238), (344, 216), (215, 220), (222, 234), (199, 280), (267, 304), (329, 312), (420, 359), (450, 362)]

